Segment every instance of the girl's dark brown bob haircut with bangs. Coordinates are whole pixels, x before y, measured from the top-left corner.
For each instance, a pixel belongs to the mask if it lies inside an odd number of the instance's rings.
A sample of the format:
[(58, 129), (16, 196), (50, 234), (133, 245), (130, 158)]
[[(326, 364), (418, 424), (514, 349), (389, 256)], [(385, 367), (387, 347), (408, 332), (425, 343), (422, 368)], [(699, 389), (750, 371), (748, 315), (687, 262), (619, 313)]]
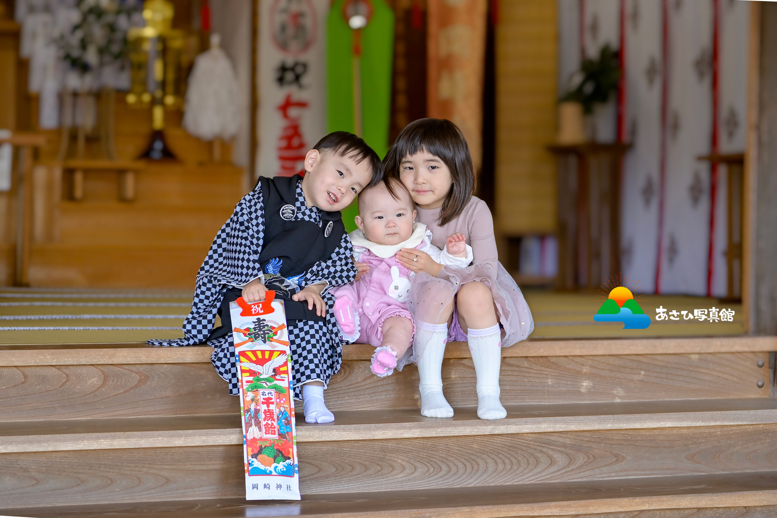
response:
[(438, 221), (440, 225), (447, 224), (462, 214), (475, 189), (475, 171), (469, 146), (462, 130), (450, 120), (414, 120), (399, 132), (394, 145), (383, 159), (386, 176), (399, 178), (402, 160), (419, 151), (427, 151), (440, 158), (451, 171), (453, 183), (442, 203)]

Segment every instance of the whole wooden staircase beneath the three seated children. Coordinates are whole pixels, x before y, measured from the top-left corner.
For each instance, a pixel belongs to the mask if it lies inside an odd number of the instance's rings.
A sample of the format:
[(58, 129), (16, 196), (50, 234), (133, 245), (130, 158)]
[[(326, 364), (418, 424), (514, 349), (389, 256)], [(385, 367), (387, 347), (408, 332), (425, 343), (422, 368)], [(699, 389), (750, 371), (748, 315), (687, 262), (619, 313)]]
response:
[(302, 501), (246, 502), (209, 347), (0, 346), (0, 515), (777, 516), (775, 350), (524, 342), (503, 351), (507, 419), (483, 421), (466, 344), (444, 360), (452, 419), (420, 415), (415, 367), (380, 379), (347, 346), (336, 421), (298, 419)]

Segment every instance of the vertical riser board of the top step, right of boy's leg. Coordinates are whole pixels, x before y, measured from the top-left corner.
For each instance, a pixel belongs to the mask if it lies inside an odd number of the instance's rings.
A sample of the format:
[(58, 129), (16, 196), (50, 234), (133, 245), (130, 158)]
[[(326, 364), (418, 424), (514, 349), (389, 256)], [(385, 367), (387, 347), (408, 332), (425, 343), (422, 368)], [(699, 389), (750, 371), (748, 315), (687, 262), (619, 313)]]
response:
[[(470, 358), (444, 360), (442, 377), (451, 405), (477, 405)], [(347, 360), (329, 384), (327, 405), (331, 402), (336, 410), (420, 408), (418, 383), (415, 366), (378, 378), (367, 360)], [(768, 353), (507, 356), (500, 367), (503, 405), (765, 398), (768, 385)]]

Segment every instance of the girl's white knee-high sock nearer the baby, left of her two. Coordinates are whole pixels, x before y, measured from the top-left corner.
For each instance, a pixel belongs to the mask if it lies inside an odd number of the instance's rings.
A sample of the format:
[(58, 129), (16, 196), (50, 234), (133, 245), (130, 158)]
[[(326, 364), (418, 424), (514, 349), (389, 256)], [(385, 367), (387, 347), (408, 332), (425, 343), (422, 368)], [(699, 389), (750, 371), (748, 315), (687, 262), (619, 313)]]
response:
[(416, 324), (416, 338), (413, 342), (421, 356), (418, 360), (421, 415), (427, 417), (453, 417), (453, 408), (442, 394), (442, 358), (447, 338), (447, 324)]

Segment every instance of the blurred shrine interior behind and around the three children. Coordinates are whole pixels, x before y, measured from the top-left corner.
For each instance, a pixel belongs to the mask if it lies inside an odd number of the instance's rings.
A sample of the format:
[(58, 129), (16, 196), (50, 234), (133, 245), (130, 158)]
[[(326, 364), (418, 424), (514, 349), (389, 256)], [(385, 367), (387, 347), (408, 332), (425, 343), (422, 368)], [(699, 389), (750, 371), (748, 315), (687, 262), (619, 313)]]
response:
[(0, 0), (3, 309), (88, 321), (78, 297), (153, 290), (180, 315), (124, 330), (178, 335), (256, 176), (332, 130), (384, 155), (430, 116), (467, 138), (532, 337), (622, 335), (591, 322), (618, 285), (651, 318), (735, 315), (643, 335), (775, 333), (770, 21), (744, 0)]

